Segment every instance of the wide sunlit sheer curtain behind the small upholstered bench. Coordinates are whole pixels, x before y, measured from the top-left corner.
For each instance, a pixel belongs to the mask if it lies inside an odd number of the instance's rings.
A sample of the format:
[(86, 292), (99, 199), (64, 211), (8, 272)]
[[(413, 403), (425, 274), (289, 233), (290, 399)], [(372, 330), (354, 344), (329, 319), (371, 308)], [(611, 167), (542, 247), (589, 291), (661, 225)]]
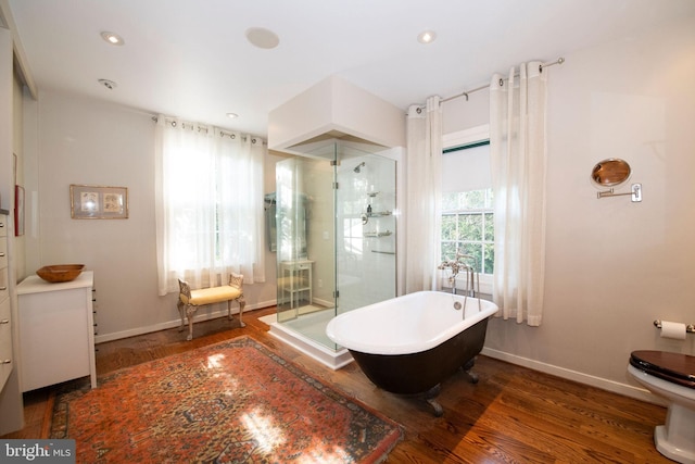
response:
[(160, 116), (155, 142), (159, 294), (265, 281), (263, 140)]

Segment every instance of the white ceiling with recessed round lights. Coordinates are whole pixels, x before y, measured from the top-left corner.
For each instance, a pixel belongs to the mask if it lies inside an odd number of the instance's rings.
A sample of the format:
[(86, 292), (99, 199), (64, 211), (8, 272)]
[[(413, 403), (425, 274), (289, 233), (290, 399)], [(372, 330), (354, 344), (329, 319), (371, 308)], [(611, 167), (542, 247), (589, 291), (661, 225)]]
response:
[[(331, 75), (405, 111), (519, 62), (695, 16), (695, 0), (7, 1), (39, 95), (80, 93), (257, 136), (269, 111)], [(273, 30), (279, 46), (252, 46), (251, 27)], [(437, 39), (422, 45), (426, 29)], [(125, 45), (102, 40), (106, 30)]]

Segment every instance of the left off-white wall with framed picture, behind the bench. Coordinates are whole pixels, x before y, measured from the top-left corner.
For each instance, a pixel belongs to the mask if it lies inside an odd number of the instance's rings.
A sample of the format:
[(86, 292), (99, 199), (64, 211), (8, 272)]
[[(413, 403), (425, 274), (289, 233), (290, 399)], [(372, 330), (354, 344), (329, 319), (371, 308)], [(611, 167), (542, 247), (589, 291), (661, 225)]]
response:
[[(151, 115), (73, 95), (42, 92), (38, 102), (25, 108), (25, 129), (30, 210), (26, 274), (58, 263), (84, 263), (94, 271), (98, 341), (176, 326), (177, 296), (156, 294)], [(266, 160), (273, 171), (274, 159)], [(275, 181), (274, 175), (266, 175), (266, 183), (270, 181), (266, 191), (274, 189)], [(72, 220), (71, 184), (127, 187), (129, 217)], [(268, 284), (244, 287), (247, 309), (275, 304), (274, 253), (267, 253), (266, 268)], [(208, 306), (199, 314), (202, 318), (220, 310), (220, 305)]]

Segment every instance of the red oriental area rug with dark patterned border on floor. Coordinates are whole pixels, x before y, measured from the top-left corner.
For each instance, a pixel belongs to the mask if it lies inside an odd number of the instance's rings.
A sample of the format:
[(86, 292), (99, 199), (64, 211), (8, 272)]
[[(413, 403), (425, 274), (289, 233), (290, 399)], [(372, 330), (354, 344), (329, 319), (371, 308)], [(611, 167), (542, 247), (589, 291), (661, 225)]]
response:
[(378, 463), (403, 434), (249, 337), (99, 380), (54, 400), (78, 463)]

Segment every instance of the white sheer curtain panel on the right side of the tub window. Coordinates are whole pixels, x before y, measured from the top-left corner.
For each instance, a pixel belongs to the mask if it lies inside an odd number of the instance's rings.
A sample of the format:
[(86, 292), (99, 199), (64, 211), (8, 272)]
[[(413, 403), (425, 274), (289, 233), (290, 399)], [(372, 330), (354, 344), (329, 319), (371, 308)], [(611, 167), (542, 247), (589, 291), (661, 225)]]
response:
[(530, 326), (541, 325), (545, 277), (547, 73), (540, 66), (521, 64), (506, 79), (495, 74), (490, 84), (493, 299), (505, 319), (516, 317)]

